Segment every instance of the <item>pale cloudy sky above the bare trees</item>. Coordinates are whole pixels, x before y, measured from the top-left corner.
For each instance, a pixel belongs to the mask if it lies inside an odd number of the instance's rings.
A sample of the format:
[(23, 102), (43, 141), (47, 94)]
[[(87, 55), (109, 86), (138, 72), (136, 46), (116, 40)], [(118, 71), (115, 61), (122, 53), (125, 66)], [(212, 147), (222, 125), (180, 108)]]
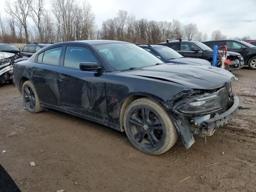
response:
[[(3, 1), (4, 0), (0, 0)], [(50, 1), (50, 0), (48, 0)], [(80, 1), (80, 0), (77, 0)], [(133, 13), (136, 19), (196, 23), (207, 33), (220, 30), (228, 38), (250, 36), (256, 39), (256, 0), (87, 0), (96, 15), (96, 24), (116, 16), (118, 10)], [(4, 12), (3, 6), (0, 11)], [(2, 14), (5, 15), (4, 12)]]

